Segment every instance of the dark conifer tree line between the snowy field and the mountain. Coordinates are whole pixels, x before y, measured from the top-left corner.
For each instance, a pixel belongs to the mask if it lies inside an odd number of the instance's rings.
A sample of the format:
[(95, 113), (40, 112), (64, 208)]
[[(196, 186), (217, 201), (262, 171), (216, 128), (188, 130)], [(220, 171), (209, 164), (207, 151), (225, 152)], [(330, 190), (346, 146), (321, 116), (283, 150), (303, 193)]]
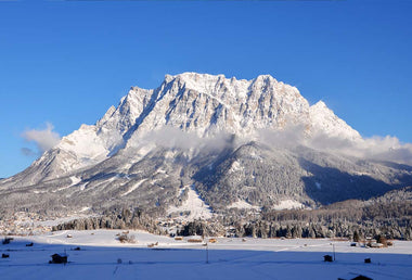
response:
[[(72, 220), (52, 230), (142, 229), (168, 234), (168, 229), (141, 208), (112, 207), (100, 217)], [(194, 220), (178, 228), (179, 236), (255, 238), (347, 238), (383, 236), (412, 240), (412, 202), (345, 201), (318, 209), (232, 211), (214, 220)]]

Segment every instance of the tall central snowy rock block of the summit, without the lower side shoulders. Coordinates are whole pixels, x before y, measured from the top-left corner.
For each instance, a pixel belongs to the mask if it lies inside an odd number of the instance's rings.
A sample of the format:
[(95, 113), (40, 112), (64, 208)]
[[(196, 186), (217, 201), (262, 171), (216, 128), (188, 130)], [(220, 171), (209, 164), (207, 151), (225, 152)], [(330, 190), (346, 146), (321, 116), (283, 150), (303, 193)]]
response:
[(304, 122), (309, 114), (309, 103), (296, 88), (269, 75), (253, 80), (196, 73), (167, 75), (151, 100), (133, 135), (142, 136), (165, 125), (199, 137), (253, 135), (258, 128), (278, 129), (288, 120)]

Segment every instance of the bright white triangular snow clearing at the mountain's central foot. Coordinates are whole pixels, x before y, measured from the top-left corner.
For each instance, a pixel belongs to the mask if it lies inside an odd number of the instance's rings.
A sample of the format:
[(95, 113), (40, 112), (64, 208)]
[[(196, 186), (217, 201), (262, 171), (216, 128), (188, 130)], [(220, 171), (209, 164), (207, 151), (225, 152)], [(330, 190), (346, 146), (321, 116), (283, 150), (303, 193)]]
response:
[(210, 207), (198, 196), (193, 187), (185, 187), (182, 192), (188, 191), (188, 199), (183, 201), (182, 205), (176, 207), (171, 206), (167, 211), (167, 214), (179, 214), (182, 212), (190, 212), (189, 215), (183, 215), (181, 218), (183, 220), (194, 220), (194, 219), (209, 219), (213, 216)]

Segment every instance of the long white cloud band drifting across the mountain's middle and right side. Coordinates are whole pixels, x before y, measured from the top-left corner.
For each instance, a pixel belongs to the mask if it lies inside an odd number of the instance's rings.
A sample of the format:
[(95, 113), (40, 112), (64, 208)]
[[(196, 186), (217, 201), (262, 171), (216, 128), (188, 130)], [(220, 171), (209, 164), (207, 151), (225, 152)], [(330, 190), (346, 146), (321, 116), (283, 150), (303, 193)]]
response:
[[(166, 126), (140, 138), (139, 143), (141, 145), (154, 143), (167, 149), (202, 149), (205, 151), (220, 150), (231, 144), (237, 147), (253, 139), (236, 137), (235, 142), (232, 142), (231, 135), (223, 132), (210, 138), (199, 138), (195, 132), (184, 132), (178, 128)], [(333, 154), (412, 165), (412, 143), (402, 143), (398, 138), (390, 136), (375, 136), (356, 141), (330, 137), (322, 132), (308, 137), (305, 126), (298, 125), (289, 126), (284, 130), (261, 129), (255, 140), (278, 149), (306, 145)]]

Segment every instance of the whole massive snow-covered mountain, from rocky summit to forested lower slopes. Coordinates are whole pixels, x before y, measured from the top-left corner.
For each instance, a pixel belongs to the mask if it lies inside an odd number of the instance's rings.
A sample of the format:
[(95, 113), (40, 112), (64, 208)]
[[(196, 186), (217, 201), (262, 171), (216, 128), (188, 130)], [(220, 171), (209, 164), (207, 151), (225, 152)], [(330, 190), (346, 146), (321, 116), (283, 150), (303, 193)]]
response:
[(206, 217), (366, 200), (412, 184), (411, 167), (327, 149), (325, 140), (364, 143), (324, 102), (310, 106), (269, 75), (167, 75), (157, 89), (132, 87), (94, 125), (81, 125), (26, 170), (0, 180), (0, 207), (199, 209), (189, 203), (202, 204)]

